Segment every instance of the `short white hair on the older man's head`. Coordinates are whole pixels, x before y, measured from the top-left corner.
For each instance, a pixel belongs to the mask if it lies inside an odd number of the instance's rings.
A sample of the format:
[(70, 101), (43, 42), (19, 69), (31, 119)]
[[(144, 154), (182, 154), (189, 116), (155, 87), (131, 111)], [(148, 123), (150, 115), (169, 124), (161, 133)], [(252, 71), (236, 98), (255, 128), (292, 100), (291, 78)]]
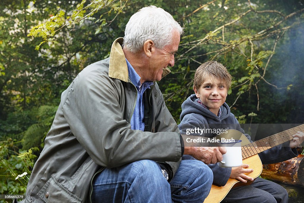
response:
[(171, 43), (175, 30), (180, 35), (184, 32), (184, 28), (170, 13), (154, 5), (143, 7), (126, 24), (123, 47), (136, 53), (142, 49), (146, 40), (152, 40), (156, 48), (162, 49)]

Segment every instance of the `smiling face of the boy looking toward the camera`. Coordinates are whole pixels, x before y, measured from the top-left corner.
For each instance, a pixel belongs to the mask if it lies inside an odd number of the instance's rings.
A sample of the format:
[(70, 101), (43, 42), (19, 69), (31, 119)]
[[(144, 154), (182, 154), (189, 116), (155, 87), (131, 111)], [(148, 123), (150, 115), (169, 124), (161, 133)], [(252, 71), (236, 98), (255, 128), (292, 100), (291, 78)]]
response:
[(197, 98), (200, 98), (202, 103), (209, 108), (209, 110), (217, 115), (219, 107), (226, 101), (227, 87), (217, 78), (207, 78), (199, 89), (194, 88)]

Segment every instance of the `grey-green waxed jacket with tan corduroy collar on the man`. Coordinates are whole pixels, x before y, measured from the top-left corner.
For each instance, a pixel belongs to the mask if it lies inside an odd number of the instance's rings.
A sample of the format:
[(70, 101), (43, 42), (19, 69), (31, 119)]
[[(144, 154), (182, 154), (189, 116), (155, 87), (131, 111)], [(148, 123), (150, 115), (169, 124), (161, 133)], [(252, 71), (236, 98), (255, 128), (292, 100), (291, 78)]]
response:
[(145, 131), (131, 129), (137, 92), (122, 42), (116, 39), (110, 57), (84, 68), (62, 93), (22, 202), (88, 202), (94, 174), (141, 159), (170, 161), (176, 172), (180, 134), (156, 82), (146, 93)]

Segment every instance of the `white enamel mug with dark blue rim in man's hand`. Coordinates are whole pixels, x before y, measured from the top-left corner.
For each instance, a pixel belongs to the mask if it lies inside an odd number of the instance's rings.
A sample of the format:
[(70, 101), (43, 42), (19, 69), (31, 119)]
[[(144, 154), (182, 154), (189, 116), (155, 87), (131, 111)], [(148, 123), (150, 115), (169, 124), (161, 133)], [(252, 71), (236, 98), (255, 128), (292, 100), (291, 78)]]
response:
[(226, 147), (227, 149), (226, 154), (223, 154), (223, 160), (217, 163), (220, 167), (236, 167), (242, 165), (241, 142), (242, 140), (219, 142), (220, 146)]

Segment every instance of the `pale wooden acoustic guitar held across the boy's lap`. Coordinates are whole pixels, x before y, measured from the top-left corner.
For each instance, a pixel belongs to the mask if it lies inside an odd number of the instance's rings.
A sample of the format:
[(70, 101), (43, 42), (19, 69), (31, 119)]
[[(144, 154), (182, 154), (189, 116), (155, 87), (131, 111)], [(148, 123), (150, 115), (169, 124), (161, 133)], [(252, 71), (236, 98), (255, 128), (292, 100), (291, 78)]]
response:
[[(277, 133), (275, 135), (271, 135), (267, 138), (263, 138), (261, 140), (255, 141), (250, 143), (247, 137), (242, 134), (240, 131), (237, 130), (228, 130), (228, 133), (223, 133), (218, 136), (217, 138), (226, 138), (226, 139), (240, 139), (242, 140), (242, 159), (243, 164), (248, 164), (249, 168), (253, 169), (253, 172), (246, 173), (249, 177), (257, 178), (262, 173), (262, 162), (258, 153), (263, 152), (267, 149), (280, 145), (284, 142), (290, 141), (293, 139), (292, 135), (294, 135), (297, 131), (304, 132), (304, 124), (299, 125), (295, 128), (291, 128), (285, 130), (283, 132)], [(247, 181), (247, 184), (240, 182), (239, 180), (229, 178), (228, 182), (225, 186), (218, 186), (212, 184), (211, 190), (207, 198), (204, 202), (206, 203), (218, 203), (222, 201), (228, 192), (234, 188), (239, 186), (244, 186), (252, 183), (251, 181)]]

